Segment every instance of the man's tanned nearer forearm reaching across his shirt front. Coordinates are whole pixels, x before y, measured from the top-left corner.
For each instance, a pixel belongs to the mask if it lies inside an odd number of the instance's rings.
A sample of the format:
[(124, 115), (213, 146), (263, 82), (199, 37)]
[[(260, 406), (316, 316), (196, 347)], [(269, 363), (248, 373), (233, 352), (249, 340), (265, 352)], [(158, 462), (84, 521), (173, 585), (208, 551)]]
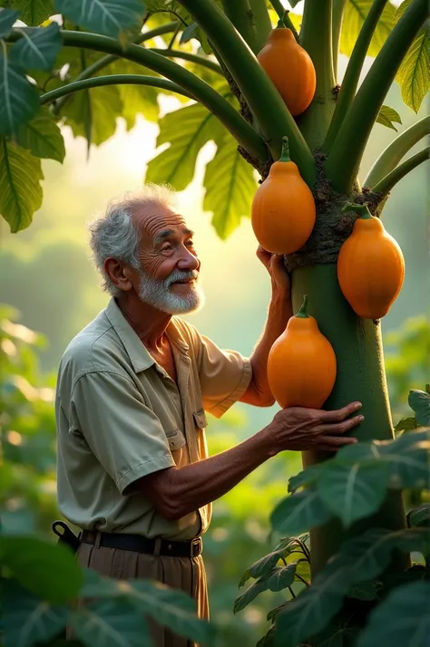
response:
[(164, 475), (159, 511), (170, 519), (185, 517), (222, 497), (275, 453), (265, 428), (210, 459), (170, 468)]

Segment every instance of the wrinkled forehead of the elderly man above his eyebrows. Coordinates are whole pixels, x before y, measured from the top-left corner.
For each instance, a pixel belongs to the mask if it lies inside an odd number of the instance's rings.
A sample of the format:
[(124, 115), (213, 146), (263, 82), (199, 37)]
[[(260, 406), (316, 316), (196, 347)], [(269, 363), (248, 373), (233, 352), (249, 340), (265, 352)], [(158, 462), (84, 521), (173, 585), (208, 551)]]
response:
[(184, 218), (177, 211), (156, 202), (136, 208), (133, 214), (135, 225), (141, 233), (142, 245), (153, 245), (177, 235), (191, 236)]

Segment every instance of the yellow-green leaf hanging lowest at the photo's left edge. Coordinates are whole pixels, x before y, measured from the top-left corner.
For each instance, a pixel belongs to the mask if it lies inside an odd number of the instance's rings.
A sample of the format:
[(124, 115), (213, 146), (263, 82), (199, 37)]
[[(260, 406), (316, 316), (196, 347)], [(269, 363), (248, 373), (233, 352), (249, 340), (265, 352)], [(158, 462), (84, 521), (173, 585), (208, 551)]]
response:
[(25, 229), (42, 204), (40, 159), (0, 137), (0, 214), (12, 232)]

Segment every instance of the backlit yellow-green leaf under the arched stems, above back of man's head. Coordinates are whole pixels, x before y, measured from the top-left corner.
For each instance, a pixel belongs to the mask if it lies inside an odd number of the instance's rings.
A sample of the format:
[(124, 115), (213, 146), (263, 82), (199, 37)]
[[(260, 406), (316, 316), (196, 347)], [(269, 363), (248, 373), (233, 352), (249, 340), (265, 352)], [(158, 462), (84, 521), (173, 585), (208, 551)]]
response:
[(85, 137), (99, 146), (116, 130), (116, 117), (122, 112), (119, 89), (106, 85), (93, 90), (76, 92), (64, 106), (65, 124), (71, 126), (75, 137)]

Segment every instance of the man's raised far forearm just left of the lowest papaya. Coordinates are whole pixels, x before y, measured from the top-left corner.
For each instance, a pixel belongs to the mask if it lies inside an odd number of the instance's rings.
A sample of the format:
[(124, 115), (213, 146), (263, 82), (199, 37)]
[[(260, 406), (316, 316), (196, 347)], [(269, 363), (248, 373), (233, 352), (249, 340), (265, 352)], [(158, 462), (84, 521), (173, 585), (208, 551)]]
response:
[(252, 380), (249, 389), (240, 399), (257, 406), (269, 406), (275, 401), (269, 388), (268, 357), (273, 343), (286, 328), (292, 315), (289, 295), (274, 295), (269, 304), (268, 318), (263, 333), (250, 357)]

